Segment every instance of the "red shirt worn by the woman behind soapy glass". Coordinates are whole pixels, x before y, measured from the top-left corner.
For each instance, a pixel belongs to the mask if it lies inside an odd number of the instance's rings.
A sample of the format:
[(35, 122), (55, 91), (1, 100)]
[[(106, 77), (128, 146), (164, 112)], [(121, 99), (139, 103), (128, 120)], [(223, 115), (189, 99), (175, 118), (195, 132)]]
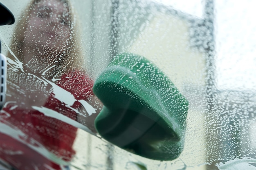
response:
[[(76, 71), (63, 75), (61, 80), (56, 81), (56, 85), (70, 92), (76, 102), (67, 107), (65, 103), (55, 98), (52, 92), (43, 107), (76, 120), (77, 113), (74, 109), (81, 107), (79, 100), (89, 100), (93, 96), (93, 81), (84, 73)], [(19, 170), (30, 170), (35, 166), (39, 170), (47, 169), (47, 166), (60, 169), (58, 164), (29, 146), (43, 146), (64, 161), (71, 161), (75, 154), (72, 146), (77, 128), (56, 118), (45, 116), (33, 108), (24, 109), (17, 107), (16, 103), (9, 103), (0, 113), (1, 123), (22, 131), (23, 135), (19, 136), (19, 139), (25, 143), (14, 139), (11, 135), (0, 133), (0, 159)]]

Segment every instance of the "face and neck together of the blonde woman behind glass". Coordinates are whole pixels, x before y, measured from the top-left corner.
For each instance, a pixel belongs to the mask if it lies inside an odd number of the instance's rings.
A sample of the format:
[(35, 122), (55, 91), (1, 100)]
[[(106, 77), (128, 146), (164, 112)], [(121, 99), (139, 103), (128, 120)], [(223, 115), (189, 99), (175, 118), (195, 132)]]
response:
[(40, 0), (28, 17), (22, 42), (22, 62), (27, 70), (42, 74), (67, 59), (65, 54), (70, 52), (72, 44), (71, 16), (66, 4), (60, 0)]

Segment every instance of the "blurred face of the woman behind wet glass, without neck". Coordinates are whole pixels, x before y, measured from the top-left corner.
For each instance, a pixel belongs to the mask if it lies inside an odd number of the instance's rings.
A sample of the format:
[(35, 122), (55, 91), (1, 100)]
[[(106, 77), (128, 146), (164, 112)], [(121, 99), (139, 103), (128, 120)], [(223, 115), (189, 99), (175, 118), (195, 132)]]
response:
[(24, 43), (54, 53), (70, 44), (70, 13), (60, 0), (40, 0), (29, 14)]

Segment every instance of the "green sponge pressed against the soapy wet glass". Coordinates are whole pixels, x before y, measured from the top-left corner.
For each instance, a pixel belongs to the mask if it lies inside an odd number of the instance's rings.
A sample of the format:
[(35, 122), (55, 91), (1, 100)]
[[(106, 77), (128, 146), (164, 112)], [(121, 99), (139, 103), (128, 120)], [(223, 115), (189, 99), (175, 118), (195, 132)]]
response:
[(149, 159), (180, 155), (189, 104), (153, 63), (119, 54), (97, 78), (93, 92), (104, 105), (94, 121), (101, 137)]

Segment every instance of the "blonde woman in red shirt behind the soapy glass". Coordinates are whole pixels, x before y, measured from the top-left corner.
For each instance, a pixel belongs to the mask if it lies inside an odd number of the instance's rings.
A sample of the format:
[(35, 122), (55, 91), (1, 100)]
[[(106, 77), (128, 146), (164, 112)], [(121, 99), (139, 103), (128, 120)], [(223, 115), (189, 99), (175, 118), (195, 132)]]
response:
[[(96, 132), (93, 122), (101, 109), (83, 68), (79, 27), (70, 3), (33, 0), (16, 26), (10, 48), (7, 103), (0, 113), (0, 126), (5, 127), (0, 129), (0, 160), (19, 170), (61, 169), (60, 164), (68, 164), (75, 155), (77, 128), (45, 113), (61, 113)], [(68, 105), (56, 98), (54, 85), (75, 102)], [(88, 114), (82, 100), (97, 113)]]

